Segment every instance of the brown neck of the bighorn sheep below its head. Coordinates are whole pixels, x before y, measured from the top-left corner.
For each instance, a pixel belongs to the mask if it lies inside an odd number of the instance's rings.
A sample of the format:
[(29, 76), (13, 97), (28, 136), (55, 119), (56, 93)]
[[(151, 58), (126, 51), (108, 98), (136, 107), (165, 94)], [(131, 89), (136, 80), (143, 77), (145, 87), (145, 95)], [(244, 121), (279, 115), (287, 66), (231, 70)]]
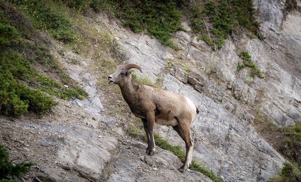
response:
[(138, 85), (136, 85), (132, 81), (132, 79), (126, 80), (126, 81), (122, 82), (121, 84), (119, 84), (122, 96), (123, 96), (124, 100), (126, 101), (126, 103), (129, 104), (132, 101), (134, 101), (137, 86)]

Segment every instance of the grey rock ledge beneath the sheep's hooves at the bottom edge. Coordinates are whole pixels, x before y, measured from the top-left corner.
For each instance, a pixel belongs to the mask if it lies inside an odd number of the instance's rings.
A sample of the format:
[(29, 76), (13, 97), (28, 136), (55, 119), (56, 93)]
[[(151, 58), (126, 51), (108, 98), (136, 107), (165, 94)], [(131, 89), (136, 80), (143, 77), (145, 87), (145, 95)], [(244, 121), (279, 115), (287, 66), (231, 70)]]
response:
[(170, 151), (157, 147), (154, 156), (144, 157), (138, 155), (144, 149), (132, 148), (129, 152), (133, 154), (121, 151), (113, 157), (107, 181), (212, 181), (201, 172), (180, 172), (182, 162)]

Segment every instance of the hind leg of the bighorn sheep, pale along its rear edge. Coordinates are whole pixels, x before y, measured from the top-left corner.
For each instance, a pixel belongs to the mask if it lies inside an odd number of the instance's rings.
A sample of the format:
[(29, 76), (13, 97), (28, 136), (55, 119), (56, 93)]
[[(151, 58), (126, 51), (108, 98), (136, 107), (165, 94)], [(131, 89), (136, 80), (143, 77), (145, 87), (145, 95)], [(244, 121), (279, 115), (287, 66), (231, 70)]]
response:
[(194, 142), (190, 136), (190, 127), (188, 127), (188, 129), (185, 129), (178, 124), (176, 126), (173, 126), (173, 128), (178, 132), (178, 134), (181, 136), (181, 138), (185, 141), (186, 144), (185, 161), (183, 165), (179, 168), (181, 172), (184, 172), (191, 164)]

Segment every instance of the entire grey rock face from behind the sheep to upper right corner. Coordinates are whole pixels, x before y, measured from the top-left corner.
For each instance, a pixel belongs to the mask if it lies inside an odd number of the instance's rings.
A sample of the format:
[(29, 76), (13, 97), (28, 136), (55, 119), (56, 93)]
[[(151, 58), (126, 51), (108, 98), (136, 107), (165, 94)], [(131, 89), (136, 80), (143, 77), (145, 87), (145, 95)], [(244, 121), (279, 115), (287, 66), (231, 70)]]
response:
[[(118, 24), (110, 29), (121, 47), (126, 47), (130, 62), (140, 65), (153, 81), (164, 77), (164, 89), (184, 94), (198, 106), (200, 114), (192, 125), (196, 141), (194, 158), (230, 181), (266, 181), (284, 162), (256, 133), (254, 116), (248, 109), (259, 108), (265, 119), (272, 119), (277, 125), (293, 125), (301, 118), (300, 67), (295, 66), (301, 59), (297, 51), (300, 12), (298, 8), (286, 11), (285, 0), (254, 0), (254, 4), (261, 13), (262, 31), (267, 38), (261, 41), (233, 34), (219, 52), (213, 52), (189, 32), (175, 33), (174, 42), (181, 47), (176, 52), (158, 46), (156, 39), (126, 32)], [(293, 48), (287, 50), (290, 46)], [(264, 79), (252, 78), (247, 69), (237, 72), (239, 54), (244, 50), (251, 54)], [(172, 75), (166, 73), (170, 66), (166, 60), (178, 59), (189, 65), (189, 75), (177, 66)], [(287, 62), (291, 66), (286, 66)], [(212, 73), (219, 79), (209, 78)], [(157, 126), (157, 132), (173, 144), (185, 147), (171, 128)], [(117, 179), (114, 176), (110, 178)]]

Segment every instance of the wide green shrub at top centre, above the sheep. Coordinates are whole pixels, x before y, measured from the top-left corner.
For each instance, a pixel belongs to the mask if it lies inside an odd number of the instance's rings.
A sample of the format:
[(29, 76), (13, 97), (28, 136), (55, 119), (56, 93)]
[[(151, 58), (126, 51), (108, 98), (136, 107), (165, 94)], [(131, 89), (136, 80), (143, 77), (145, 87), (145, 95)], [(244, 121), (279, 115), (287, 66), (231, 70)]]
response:
[(173, 0), (113, 0), (112, 3), (117, 5), (117, 16), (123, 19), (124, 24), (132, 31), (146, 30), (162, 44), (178, 48), (170, 41), (170, 33), (183, 29), (180, 21), (182, 14), (176, 9)]

